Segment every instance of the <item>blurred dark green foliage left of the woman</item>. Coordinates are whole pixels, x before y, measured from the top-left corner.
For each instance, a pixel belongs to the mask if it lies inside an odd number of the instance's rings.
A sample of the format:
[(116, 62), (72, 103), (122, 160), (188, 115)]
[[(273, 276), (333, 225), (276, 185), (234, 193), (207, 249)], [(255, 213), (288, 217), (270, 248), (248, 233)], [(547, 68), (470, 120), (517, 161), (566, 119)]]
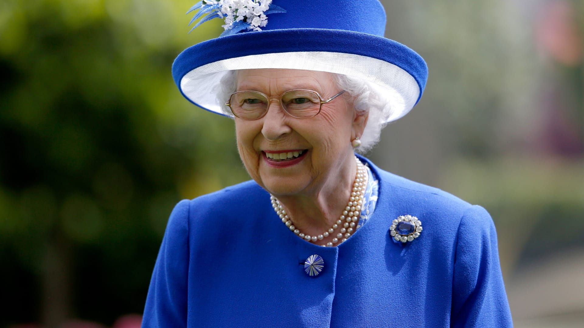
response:
[(248, 179), (172, 81), (189, 6), (0, 1), (0, 326), (141, 313), (173, 205)]

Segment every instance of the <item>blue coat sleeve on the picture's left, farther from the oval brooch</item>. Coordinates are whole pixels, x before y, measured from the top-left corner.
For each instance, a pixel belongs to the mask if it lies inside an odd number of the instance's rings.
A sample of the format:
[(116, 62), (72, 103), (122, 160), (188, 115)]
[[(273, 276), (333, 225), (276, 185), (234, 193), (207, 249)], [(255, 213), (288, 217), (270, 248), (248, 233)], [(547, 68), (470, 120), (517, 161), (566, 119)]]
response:
[(142, 328), (186, 327), (189, 204), (176, 204), (166, 226), (148, 289)]

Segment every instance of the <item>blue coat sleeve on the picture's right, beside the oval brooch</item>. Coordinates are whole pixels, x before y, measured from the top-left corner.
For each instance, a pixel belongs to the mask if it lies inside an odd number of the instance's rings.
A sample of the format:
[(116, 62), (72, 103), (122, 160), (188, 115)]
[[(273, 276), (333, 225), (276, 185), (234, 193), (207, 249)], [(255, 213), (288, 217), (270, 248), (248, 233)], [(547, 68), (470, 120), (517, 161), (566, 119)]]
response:
[(495, 225), (478, 205), (465, 212), (458, 227), (451, 311), (451, 327), (513, 326)]

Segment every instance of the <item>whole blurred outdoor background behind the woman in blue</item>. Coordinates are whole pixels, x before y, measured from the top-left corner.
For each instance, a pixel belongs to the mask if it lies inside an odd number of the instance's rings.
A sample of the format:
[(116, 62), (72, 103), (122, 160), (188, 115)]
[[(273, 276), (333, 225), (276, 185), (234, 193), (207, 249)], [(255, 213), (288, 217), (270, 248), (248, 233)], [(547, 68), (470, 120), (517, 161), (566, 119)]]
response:
[[(173, 206), (249, 179), (171, 77), (196, 0), (0, 0), (0, 327), (140, 324)], [(381, 1), (425, 94), (369, 157), (491, 212), (516, 327), (584, 325), (584, 4)]]

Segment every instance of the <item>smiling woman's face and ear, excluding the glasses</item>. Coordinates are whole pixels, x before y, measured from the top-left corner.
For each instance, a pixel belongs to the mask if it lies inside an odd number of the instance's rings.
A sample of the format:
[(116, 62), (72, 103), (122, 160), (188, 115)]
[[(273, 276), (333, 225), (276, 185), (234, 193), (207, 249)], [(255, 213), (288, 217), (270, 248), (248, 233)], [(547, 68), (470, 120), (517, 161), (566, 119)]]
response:
[[(237, 74), (237, 91), (279, 97), (294, 89), (314, 90), (323, 99), (340, 92), (327, 72), (248, 69)], [(312, 118), (291, 117), (274, 100), (258, 120), (235, 117), (239, 155), (252, 179), (274, 196), (319, 193), (343, 180), (340, 175), (353, 160), (351, 140), (366, 123), (347, 100), (346, 94), (336, 97)], [(281, 153), (292, 157), (275, 159)]]

